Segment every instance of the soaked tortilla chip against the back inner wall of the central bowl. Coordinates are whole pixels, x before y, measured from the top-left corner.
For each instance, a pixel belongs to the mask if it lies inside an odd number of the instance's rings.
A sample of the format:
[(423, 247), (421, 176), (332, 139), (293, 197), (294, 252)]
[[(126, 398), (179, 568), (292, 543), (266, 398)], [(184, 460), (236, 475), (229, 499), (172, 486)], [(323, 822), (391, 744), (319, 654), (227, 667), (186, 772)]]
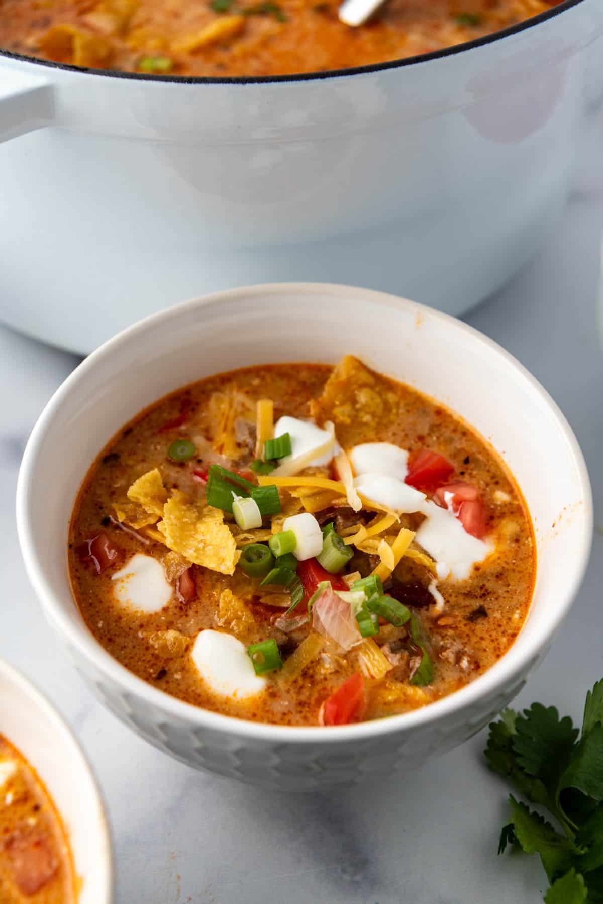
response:
[[(320, 424), (333, 420), (337, 439), (348, 447), (359, 441), (374, 441), (376, 428), (398, 419), (400, 400), (390, 381), (346, 355), (326, 381), (320, 398), (310, 402), (310, 411)], [(363, 433), (361, 438), (358, 428)]]

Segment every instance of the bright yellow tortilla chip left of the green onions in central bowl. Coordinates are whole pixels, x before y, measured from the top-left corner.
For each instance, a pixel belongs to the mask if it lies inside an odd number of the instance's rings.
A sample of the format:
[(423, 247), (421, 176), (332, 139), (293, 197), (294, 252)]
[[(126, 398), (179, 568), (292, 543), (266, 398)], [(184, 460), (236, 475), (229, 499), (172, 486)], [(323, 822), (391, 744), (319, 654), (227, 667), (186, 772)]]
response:
[(184, 493), (174, 493), (164, 505), (164, 520), (157, 529), (165, 545), (196, 565), (232, 574), (240, 551), (224, 523), (224, 513), (212, 505), (187, 504)]

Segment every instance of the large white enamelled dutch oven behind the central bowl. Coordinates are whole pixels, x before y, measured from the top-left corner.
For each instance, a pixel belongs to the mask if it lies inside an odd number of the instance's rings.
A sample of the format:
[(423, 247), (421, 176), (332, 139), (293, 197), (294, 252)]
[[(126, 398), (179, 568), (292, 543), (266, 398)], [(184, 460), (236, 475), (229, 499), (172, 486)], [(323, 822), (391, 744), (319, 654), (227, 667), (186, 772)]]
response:
[(601, 0), (566, 0), (448, 51), (273, 80), (0, 53), (0, 317), (89, 352), (178, 298), (292, 278), (458, 314), (560, 212), (602, 29)]

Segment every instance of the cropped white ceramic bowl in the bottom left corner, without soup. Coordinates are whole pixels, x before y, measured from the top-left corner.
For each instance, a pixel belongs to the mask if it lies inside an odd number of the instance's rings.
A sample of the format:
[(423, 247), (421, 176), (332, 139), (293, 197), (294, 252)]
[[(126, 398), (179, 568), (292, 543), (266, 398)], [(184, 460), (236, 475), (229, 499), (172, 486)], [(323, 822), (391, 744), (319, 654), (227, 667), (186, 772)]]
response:
[(90, 766), (58, 712), (4, 660), (0, 660), (0, 734), (31, 763), (61, 814), (82, 881), (78, 904), (110, 904), (111, 842)]

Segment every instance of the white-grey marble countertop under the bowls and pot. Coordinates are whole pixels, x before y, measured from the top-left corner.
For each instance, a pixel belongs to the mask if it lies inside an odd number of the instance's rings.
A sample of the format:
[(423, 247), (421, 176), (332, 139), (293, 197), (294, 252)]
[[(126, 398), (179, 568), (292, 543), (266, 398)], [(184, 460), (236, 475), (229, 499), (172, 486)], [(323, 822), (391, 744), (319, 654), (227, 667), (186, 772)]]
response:
[[(603, 520), (599, 333), (603, 111), (593, 118), (561, 223), (542, 253), (466, 317), (523, 362), (560, 404), (589, 465)], [(404, 286), (400, 284), (400, 293)], [(1, 303), (0, 303), (1, 304)], [(526, 904), (546, 887), (535, 858), (496, 856), (506, 789), (482, 758), (485, 732), (409, 781), (349, 793), (269, 795), (193, 772), (101, 708), (46, 626), (24, 573), (14, 490), (33, 422), (77, 360), (0, 327), (0, 655), (69, 720), (99, 777), (117, 866), (117, 904)], [(579, 719), (603, 676), (603, 536), (571, 617), (515, 702)]]

